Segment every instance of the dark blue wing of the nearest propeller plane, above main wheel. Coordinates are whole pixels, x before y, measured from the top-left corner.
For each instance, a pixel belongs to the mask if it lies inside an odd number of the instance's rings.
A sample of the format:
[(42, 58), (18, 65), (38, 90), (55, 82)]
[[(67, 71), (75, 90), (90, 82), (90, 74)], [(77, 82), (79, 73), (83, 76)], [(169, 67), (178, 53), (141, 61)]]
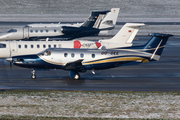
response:
[(79, 59), (73, 62), (69, 62), (65, 65), (66, 70), (76, 70), (78, 72), (86, 72), (87, 69), (82, 65), (84, 59)]

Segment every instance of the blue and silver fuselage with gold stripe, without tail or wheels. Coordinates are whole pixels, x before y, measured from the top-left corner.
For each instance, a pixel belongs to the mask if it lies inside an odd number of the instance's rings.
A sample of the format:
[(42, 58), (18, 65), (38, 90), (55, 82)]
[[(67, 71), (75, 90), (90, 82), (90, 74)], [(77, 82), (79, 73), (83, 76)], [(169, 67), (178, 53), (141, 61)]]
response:
[[(100, 70), (149, 62), (151, 56), (136, 50), (47, 49), (38, 55), (16, 56), (13, 63), (27, 68), (68, 70), (68, 63), (76, 64), (76, 61), (82, 60), (85, 70)], [(77, 71), (82, 72), (81, 69)]]

